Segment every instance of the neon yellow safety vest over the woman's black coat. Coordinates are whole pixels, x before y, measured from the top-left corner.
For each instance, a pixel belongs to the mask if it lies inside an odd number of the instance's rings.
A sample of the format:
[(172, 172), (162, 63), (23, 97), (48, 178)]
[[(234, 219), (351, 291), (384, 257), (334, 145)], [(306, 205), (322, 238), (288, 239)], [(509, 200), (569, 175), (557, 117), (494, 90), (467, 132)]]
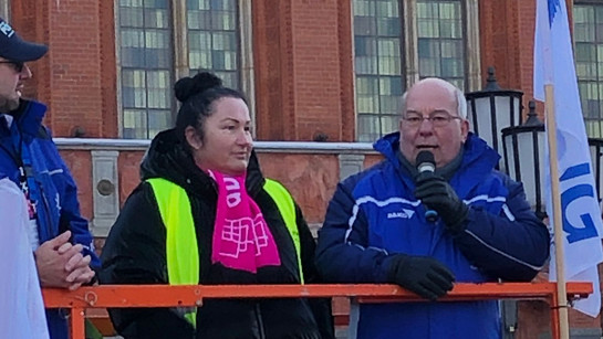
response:
[[(166, 262), (169, 285), (199, 284), (199, 252), (197, 234), (186, 191), (171, 181), (153, 178), (146, 180), (153, 188), (159, 206), (162, 221), (166, 227)], [(300, 233), (295, 219), (295, 204), (287, 189), (278, 181), (266, 179), (263, 190), (272, 198), (295, 247), (298, 271), (301, 284), (304, 284), (301, 263)], [(185, 318), (196, 327), (196, 308), (187, 310)]]

